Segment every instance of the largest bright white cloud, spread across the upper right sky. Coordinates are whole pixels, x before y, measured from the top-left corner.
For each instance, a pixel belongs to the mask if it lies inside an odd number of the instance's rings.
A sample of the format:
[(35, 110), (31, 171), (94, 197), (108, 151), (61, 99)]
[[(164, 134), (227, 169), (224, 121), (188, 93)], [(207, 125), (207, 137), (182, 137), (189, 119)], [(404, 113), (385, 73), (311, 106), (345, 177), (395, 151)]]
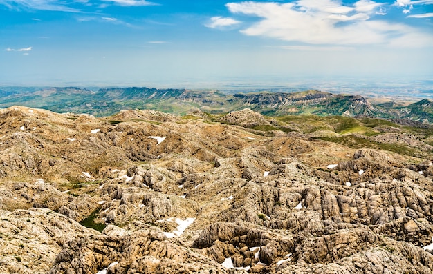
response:
[[(381, 5), (369, 0), (360, 0), (350, 6), (343, 6), (338, 0), (298, 0), (291, 3), (244, 1), (226, 4), (234, 14), (260, 18), (241, 30), (241, 33), (249, 36), (295, 43), (348, 46), (389, 45), (393, 39), (406, 37), (409, 33), (420, 34), (416, 28), (403, 23), (371, 19), (369, 14), (377, 12)], [(383, 10), (379, 12), (383, 13)], [(431, 34), (424, 36), (425, 43), (432, 40)], [(405, 45), (410, 43), (412, 41)], [(425, 43), (412, 44), (425, 46)]]

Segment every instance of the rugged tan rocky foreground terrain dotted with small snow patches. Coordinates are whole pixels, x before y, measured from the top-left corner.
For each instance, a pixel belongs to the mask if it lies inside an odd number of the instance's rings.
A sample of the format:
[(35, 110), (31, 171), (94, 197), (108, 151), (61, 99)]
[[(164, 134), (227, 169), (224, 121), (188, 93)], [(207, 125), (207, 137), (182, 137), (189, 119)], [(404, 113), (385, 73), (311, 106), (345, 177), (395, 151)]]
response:
[(432, 133), (313, 120), (0, 110), (0, 273), (433, 273)]

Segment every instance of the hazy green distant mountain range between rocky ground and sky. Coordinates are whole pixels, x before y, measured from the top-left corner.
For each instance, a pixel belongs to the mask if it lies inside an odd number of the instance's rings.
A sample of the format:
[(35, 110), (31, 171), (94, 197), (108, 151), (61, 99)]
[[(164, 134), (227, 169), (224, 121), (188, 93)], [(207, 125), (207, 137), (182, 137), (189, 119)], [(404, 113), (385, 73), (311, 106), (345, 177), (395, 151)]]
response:
[(342, 115), (411, 119), (433, 123), (433, 102), (423, 99), (409, 106), (393, 102), (371, 104), (360, 95), (335, 95), (308, 90), (296, 93), (225, 94), (218, 90), (156, 88), (0, 88), (0, 108), (13, 105), (55, 112), (113, 115), (124, 109), (149, 109), (185, 115), (202, 110), (212, 114), (250, 108), (263, 115)]

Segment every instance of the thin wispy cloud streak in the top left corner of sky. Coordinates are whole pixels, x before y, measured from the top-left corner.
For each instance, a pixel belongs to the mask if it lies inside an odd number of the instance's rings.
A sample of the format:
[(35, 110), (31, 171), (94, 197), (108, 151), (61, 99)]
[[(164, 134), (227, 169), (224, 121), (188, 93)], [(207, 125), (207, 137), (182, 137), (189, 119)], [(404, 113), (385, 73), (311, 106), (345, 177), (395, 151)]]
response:
[(12, 10), (51, 10), (58, 12), (80, 12), (57, 0), (0, 0), (0, 5)]

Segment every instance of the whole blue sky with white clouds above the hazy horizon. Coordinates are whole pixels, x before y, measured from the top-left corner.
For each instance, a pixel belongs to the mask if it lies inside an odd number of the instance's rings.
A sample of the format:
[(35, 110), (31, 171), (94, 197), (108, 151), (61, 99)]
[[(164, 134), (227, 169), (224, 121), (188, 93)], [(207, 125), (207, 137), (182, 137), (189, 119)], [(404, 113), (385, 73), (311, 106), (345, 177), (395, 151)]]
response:
[(433, 0), (0, 0), (0, 85), (433, 79)]

